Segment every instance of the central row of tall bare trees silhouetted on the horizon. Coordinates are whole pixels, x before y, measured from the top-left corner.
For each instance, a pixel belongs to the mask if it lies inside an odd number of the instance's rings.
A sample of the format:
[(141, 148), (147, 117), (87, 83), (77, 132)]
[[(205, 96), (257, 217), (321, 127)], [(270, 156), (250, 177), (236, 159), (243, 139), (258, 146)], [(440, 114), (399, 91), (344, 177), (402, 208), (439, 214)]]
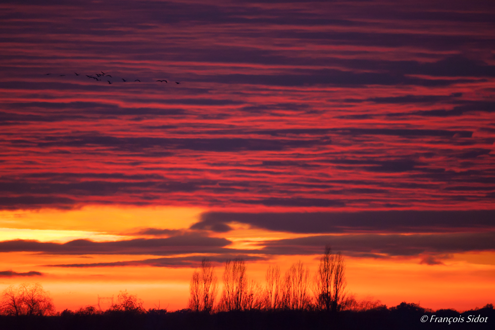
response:
[(367, 298), (356, 301), (346, 291), (345, 260), (332, 253), (329, 246), (320, 259), (318, 270), (310, 274), (301, 261), (294, 263), (282, 276), (279, 266), (269, 266), (264, 285), (247, 278), (243, 259), (227, 260), (222, 276), (222, 293), (218, 304), (218, 279), (211, 262), (203, 259), (189, 285), (188, 308), (195, 312), (246, 310), (368, 310), (381, 305)]

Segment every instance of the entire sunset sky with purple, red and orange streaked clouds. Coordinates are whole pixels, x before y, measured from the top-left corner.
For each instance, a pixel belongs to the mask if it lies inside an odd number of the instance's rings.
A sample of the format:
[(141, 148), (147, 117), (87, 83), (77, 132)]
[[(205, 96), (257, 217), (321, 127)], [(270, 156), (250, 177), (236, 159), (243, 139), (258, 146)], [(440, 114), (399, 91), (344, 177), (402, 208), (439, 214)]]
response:
[(204, 257), (263, 283), (329, 244), (358, 298), (494, 303), (494, 15), (0, 1), (0, 289), (177, 310)]

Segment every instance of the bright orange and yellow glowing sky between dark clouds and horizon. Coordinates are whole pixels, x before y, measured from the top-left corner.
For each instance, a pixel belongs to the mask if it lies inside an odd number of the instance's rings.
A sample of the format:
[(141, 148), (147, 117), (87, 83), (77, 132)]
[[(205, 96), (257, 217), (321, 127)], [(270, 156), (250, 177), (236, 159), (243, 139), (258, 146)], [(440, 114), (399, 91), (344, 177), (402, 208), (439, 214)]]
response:
[[(71, 211), (42, 210), (39, 212), (2, 212), (1, 226), (10, 227), (2, 232), (1, 240), (13, 238), (38, 241), (65, 242), (76, 238), (93, 241), (116, 241), (142, 237), (136, 229), (154, 226), (160, 229), (187, 229), (198, 221), (200, 209), (185, 208), (118, 208), (88, 207)], [(115, 217), (104, 223), (103, 219)], [(93, 221), (88, 220), (93, 219)], [(98, 219), (98, 221), (95, 221)], [(70, 223), (68, 223), (68, 220)], [(61, 230), (53, 228), (59, 226)], [(17, 229), (16, 229), (17, 227)], [(26, 227), (30, 227), (29, 230)], [(214, 233), (226, 237), (233, 249), (256, 249), (264, 239), (304, 237), (305, 235), (276, 233), (233, 224), (233, 231)], [(92, 232), (82, 229), (91, 229)], [(113, 234), (107, 234), (113, 233)], [(120, 233), (127, 233), (119, 236)], [(15, 235), (19, 235), (15, 237)], [(101, 235), (101, 236), (99, 236)], [(307, 236), (307, 235), (306, 235)], [(259, 247), (259, 246), (258, 246)], [(323, 247), (322, 247), (323, 249)], [(186, 254), (191, 255), (191, 254)], [(194, 254), (193, 254), (194, 255)], [(347, 289), (357, 299), (368, 295), (382, 303), (395, 306), (402, 301), (420, 302), (422, 306), (439, 309), (466, 310), (490, 302), (495, 293), (495, 253), (458, 253), (440, 265), (420, 264), (418, 258), (372, 259), (347, 257)], [(97, 295), (115, 299), (119, 290), (127, 289), (144, 300), (146, 308), (168, 310), (186, 308), (189, 295), (191, 267), (53, 267), (57, 264), (88, 264), (134, 262), (161, 258), (146, 254), (50, 254), (32, 252), (0, 252), (0, 269), (17, 273), (39, 271), (43, 276), (0, 278), (0, 285), (40, 282), (51, 292), (58, 310), (78, 309), (95, 305)], [(302, 260), (313, 274), (319, 255), (266, 256), (266, 260), (247, 261), (248, 275), (264, 283), (269, 264), (277, 264), (282, 274), (293, 262)], [(216, 274), (221, 286), (223, 266), (216, 263)], [(312, 275), (311, 275), (312, 276)]]

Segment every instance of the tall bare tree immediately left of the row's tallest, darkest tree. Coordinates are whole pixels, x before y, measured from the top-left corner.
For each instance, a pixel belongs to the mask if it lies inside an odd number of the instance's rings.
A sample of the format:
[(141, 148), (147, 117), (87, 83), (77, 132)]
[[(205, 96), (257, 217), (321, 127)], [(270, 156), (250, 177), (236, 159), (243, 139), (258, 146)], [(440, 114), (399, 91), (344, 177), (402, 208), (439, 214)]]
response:
[(285, 275), (283, 307), (288, 309), (306, 309), (311, 304), (308, 295), (309, 270), (299, 260), (292, 264)]

